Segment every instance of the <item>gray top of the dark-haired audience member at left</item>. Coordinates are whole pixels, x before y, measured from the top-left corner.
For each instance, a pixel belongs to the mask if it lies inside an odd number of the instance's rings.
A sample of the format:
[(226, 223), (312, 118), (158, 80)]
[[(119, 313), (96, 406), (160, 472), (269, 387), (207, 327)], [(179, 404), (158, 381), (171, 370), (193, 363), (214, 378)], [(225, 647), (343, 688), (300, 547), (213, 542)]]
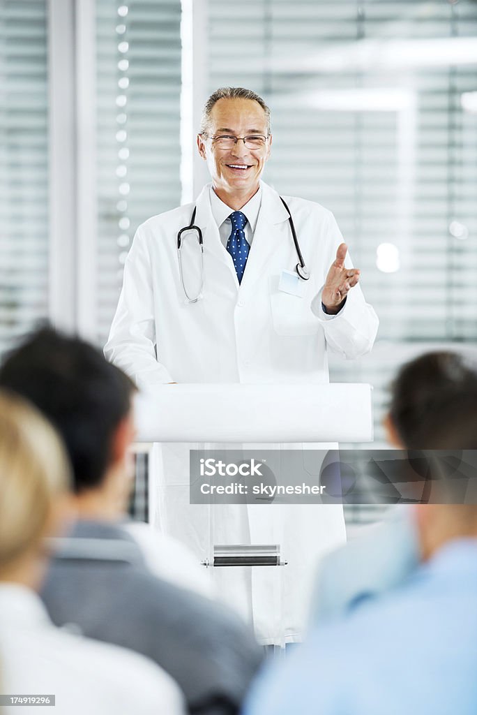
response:
[(177, 681), (191, 713), (237, 713), (261, 663), (239, 618), (154, 576), (119, 526), (80, 521), (69, 536), (41, 592), (54, 623), (149, 656)]

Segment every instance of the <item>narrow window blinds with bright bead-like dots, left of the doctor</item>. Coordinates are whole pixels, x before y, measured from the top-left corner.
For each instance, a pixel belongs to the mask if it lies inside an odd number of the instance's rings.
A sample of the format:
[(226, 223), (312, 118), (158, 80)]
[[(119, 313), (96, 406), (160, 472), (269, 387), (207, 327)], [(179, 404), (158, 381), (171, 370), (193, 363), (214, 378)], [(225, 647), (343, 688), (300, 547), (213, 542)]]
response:
[(136, 228), (180, 203), (181, 4), (97, 0), (98, 337)]

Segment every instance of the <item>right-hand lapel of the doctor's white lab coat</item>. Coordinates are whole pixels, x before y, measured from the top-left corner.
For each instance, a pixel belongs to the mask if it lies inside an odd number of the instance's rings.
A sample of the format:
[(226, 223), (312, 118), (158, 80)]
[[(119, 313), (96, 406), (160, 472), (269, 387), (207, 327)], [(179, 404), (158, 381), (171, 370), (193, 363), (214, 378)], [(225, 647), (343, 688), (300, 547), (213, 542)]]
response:
[(281, 224), (288, 220), (288, 213), (277, 192), (263, 182), (261, 187), (261, 207), (241, 282), (242, 292), (263, 277), (274, 255), (278, 255), (283, 241)]

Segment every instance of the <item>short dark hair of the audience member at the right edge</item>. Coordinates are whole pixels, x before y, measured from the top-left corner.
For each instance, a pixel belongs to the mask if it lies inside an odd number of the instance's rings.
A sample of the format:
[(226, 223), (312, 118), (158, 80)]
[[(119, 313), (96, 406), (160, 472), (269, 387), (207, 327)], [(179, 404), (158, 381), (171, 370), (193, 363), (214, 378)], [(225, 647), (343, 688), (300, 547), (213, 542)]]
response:
[(403, 365), (389, 415), (407, 449), (477, 449), (477, 363), (429, 352)]

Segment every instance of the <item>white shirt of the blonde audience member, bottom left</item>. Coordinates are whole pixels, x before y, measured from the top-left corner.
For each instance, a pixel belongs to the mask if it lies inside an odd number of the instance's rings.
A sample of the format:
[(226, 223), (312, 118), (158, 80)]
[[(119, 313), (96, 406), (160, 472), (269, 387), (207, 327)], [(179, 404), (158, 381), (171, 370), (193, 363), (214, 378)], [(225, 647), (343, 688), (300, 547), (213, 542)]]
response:
[[(178, 686), (159, 666), (56, 628), (39, 596), (16, 583), (0, 583), (0, 674), (2, 694), (54, 695), (54, 715), (184, 714)], [(39, 707), (1, 711), (38, 715)]]

